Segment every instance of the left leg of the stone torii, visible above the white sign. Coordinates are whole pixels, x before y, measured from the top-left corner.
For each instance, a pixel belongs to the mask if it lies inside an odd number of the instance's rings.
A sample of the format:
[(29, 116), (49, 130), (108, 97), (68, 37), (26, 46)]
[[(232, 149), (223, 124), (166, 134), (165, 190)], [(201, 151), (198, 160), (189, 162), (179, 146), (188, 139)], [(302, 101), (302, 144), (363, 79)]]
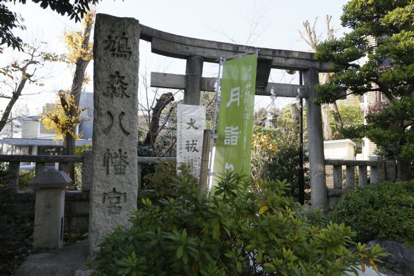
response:
[(188, 57), (186, 63), (186, 90), (184, 91), (184, 104), (199, 106), (201, 79), (203, 75), (202, 57)]

